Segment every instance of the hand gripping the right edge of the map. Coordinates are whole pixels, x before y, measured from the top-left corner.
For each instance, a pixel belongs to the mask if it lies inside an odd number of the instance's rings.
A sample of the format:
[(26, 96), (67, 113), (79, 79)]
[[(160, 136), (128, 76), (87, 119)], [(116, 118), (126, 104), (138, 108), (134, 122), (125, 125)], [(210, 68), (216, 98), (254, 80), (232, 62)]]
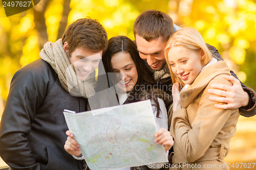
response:
[(162, 144), (164, 147), (165, 152), (170, 150), (170, 148), (173, 147), (174, 145), (174, 139), (170, 135), (170, 132), (167, 131), (164, 128), (160, 128), (156, 133), (155, 133), (155, 142), (157, 144)]

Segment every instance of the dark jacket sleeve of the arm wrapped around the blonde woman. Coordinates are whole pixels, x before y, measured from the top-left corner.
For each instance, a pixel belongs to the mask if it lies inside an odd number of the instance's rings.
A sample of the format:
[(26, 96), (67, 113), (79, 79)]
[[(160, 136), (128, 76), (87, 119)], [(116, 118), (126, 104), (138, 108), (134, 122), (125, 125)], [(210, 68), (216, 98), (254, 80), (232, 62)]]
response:
[[(219, 51), (212, 45), (210, 44), (206, 44), (207, 47), (209, 48), (209, 50), (211, 51), (211, 53), (214, 55), (214, 57), (218, 60), (218, 61), (221, 61), (223, 60), (221, 55), (219, 54)], [(236, 79), (238, 79), (237, 75), (234, 74), (234, 72), (232, 70), (230, 70), (230, 73), (233, 77), (235, 77)], [(239, 79), (238, 79), (239, 80)], [(239, 80), (240, 81), (240, 80)], [(249, 95), (249, 103), (247, 106), (245, 107), (240, 107), (239, 108), (239, 111), (240, 111), (240, 114), (242, 116), (245, 116), (245, 117), (251, 117), (251, 116), (254, 116), (256, 114), (256, 103), (255, 103), (255, 96), (256, 96), (256, 93), (254, 92), (253, 89), (251, 88), (248, 88), (246, 87), (241, 81), (241, 86), (242, 88), (244, 89), (245, 92), (248, 93)]]

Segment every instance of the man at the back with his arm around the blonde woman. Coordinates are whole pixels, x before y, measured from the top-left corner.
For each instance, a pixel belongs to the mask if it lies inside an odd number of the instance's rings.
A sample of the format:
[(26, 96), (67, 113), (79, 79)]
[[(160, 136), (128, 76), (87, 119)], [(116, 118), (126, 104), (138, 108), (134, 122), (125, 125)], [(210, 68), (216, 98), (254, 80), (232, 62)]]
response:
[[(158, 87), (169, 94), (172, 93), (172, 81), (165, 63), (164, 47), (166, 40), (177, 30), (179, 27), (173, 24), (172, 18), (157, 10), (142, 12), (136, 18), (133, 26), (140, 58), (145, 61), (145, 66), (151, 72)], [(214, 46), (209, 44), (207, 46), (217, 60), (223, 60)], [(239, 108), (243, 116), (255, 115), (255, 92), (241, 83), (233, 71), (230, 72), (232, 76), (229, 76), (228, 80), (233, 83), (233, 86), (215, 84), (208, 92), (221, 97), (210, 96), (209, 100), (224, 103), (224, 105), (215, 106), (219, 109)]]

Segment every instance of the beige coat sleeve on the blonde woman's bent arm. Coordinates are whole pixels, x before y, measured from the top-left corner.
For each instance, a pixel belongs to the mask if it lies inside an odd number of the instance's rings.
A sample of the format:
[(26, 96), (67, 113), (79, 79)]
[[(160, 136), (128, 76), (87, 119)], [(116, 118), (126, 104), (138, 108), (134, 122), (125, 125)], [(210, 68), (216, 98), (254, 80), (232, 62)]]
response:
[[(223, 79), (214, 79), (216, 81), (212, 80), (210, 84), (220, 82), (220, 80), (223, 84), (231, 84), (228, 80)], [(187, 109), (182, 108), (173, 112), (170, 131), (174, 135), (175, 144), (179, 145), (188, 162), (195, 162), (205, 154), (231, 114), (236, 113), (235, 118), (237, 119), (234, 118), (232, 121), (238, 121), (237, 109), (217, 109), (214, 105), (218, 102), (208, 100), (207, 90), (210, 88), (210, 84), (199, 99), (199, 108), (193, 110), (196, 112), (193, 122), (188, 122)], [(235, 122), (233, 123), (235, 124)], [(234, 133), (235, 129), (233, 128), (228, 133)]]

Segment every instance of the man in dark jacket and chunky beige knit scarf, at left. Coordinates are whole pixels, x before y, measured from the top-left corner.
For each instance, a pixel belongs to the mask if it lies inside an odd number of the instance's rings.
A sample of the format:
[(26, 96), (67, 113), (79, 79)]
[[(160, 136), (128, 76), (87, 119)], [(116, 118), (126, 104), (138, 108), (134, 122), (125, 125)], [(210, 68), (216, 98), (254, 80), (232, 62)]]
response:
[(12, 169), (82, 169), (63, 145), (64, 109), (87, 110), (95, 68), (108, 44), (94, 19), (73, 22), (38, 59), (14, 75), (0, 125), (0, 154)]

